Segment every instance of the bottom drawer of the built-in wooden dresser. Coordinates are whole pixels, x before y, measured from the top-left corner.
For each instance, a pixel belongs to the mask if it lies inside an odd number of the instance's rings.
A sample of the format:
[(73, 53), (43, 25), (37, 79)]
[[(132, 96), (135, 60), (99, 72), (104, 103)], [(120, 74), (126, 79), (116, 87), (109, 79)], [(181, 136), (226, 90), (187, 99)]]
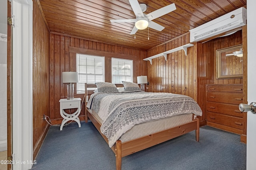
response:
[(243, 129), (243, 119), (239, 117), (207, 112), (207, 121), (234, 127), (236, 129)]

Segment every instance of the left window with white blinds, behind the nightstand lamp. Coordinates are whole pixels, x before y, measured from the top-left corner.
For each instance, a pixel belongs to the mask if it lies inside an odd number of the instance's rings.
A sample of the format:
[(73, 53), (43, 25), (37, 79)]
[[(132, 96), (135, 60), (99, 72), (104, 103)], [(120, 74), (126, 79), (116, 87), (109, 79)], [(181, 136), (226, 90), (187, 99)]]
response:
[(76, 92), (84, 93), (84, 83), (105, 81), (105, 58), (76, 54), (76, 72), (78, 72)]

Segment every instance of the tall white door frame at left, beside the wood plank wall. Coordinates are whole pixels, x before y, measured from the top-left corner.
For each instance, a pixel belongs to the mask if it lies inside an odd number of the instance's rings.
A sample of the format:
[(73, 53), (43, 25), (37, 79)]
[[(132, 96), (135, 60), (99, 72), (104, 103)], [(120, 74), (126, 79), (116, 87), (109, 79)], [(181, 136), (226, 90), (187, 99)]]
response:
[[(33, 1), (12, 0), (12, 30), (8, 44), (12, 59), (9, 63), (11, 72), (8, 92), (11, 106), (8, 106), (8, 131), (12, 129), (8, 145), (12, 145), (12, 169), (31, 169), (33, 165)], [(8, 37), (8, 38), (9, 38)], [(9, 124), (8, 124), (9, 125)], [(10, 149), (8, 149), (9, 151)], [(9, 151), (10, 152), (10, 151)], [(8, 152), (8, 155), (9, 155)]]

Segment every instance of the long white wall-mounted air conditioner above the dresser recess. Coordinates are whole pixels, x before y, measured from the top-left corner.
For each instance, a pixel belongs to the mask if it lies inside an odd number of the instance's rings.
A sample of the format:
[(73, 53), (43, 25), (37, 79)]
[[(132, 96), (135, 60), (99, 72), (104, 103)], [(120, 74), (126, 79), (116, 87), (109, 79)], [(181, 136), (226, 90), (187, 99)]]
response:
[(246, 8), (241, 7), (219, 18), (190, 29), (190, 42), (209, 40), (216, 35), (238, 31), (239, 27), (246, 25)]

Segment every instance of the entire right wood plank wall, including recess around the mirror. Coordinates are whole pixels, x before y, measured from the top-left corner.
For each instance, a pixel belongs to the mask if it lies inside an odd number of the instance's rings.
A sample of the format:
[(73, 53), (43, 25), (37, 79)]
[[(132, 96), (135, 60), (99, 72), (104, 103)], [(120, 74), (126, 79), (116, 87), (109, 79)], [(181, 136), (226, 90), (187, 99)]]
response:
[[(190, 43), (189, 34), (184, 34), (168, 43), (147, 51), (147, 57)], [(196, 100), (203, 111), (200, 125), (206, 125), (205, 85), (242, 84), (242, 78), (222, 79), (216, 77), (216, 50), (242, 44), (242, 31), (213, 39), (205, 43), (194, 43), (188, 48), (148, 62), (148, 91), (184, 94)]]

